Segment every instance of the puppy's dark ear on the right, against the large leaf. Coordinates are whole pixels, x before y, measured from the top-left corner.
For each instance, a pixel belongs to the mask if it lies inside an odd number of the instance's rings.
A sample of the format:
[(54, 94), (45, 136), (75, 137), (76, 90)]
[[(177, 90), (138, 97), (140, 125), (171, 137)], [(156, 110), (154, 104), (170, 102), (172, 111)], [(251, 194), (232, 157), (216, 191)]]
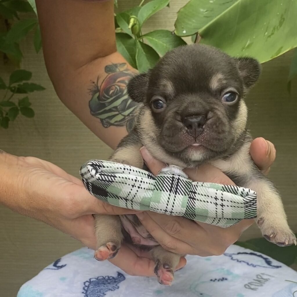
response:
[(261, 64), (256, 59), (242, 57), (237, 59), (237, 65), (244, 87), (250, 88), (261, 74)]

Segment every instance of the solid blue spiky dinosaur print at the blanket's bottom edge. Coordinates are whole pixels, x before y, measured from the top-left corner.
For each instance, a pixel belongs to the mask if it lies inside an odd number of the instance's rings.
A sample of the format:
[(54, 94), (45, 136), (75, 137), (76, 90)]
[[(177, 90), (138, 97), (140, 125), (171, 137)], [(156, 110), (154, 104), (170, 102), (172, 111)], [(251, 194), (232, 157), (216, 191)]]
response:
[(119, 289), (119, 284), (126, 278), (123, 274), (118, 272), (116, 277), (99, 276), (97, 278), (90, 278), (83, 283), (84, 297), (104, 297), (108, 291), (115, 291)]

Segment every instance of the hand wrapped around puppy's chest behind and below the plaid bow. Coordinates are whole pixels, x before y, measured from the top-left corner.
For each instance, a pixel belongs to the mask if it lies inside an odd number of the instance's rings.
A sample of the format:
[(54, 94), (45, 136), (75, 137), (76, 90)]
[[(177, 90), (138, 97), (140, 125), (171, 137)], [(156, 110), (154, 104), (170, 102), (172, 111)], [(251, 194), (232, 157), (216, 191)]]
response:
[[(154, 159), (145, 148), (141, 149), (141, 154), (153, 174), (156, 175), (165, 167), (164, 163)], [(276, 150), (271, 142), (256, 138), (251, 144), (250, 154), (260, 170), (267, 174), (274, 162)], [(187, 169), (185, 172), (194, 181), (235, 185), (228, 176), (211, 165), (200, 166), (198, 170)], [(165, 249), (178, 254), (200, 256), (221, 255), (254, 222), (253, 219), (245, 219), (229, 228), (220, 228), (150, 211), (137, 216)]]

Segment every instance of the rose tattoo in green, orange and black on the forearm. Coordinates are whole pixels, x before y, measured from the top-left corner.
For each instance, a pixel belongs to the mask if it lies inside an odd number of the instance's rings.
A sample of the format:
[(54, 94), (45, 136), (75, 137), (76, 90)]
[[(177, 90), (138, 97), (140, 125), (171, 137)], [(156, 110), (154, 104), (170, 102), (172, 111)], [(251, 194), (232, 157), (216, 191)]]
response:
[(135, 72), (126, 63), (105, 66), (108, 74), (99, 86), (93, 83), (89, 101), (91, 115), (100, 119), (103, 127), (126, 126), (129, 132), (134, 126), (138, 104), (127, 94), (127, 84)]

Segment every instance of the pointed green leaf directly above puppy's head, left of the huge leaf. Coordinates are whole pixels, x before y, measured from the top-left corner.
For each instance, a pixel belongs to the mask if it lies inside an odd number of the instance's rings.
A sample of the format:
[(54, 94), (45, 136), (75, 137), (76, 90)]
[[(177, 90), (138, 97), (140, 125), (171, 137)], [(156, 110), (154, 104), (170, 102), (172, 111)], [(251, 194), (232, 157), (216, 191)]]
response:
[(156, 30), (144, 34), (142, 36), (148, 44), (161, 56), (165, 55), (169, 50), (181, 45), (186, 45), (186, 42), (181, 37), (172, 34), (168, 30)]

